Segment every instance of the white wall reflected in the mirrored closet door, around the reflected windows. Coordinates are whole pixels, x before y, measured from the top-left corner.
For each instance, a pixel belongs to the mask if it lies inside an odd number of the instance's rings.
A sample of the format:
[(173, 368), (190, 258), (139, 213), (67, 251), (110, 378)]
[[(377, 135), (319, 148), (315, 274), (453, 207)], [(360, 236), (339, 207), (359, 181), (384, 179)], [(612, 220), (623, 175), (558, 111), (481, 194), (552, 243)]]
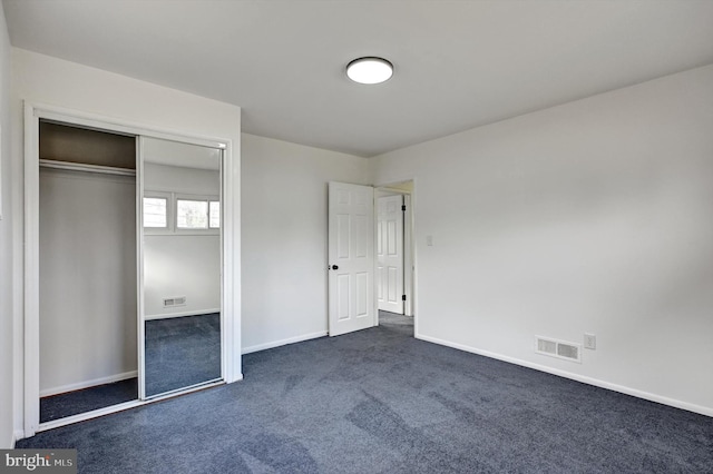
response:
[[(217, 155), (213, 157), (217, 162)], [(217, 170), (144, 164), (145, 191), (219, 196)], [(173, 213), (173, 209), (172, 209)], [(164, 298), (186, 297), (164, 307)], [(221, 237), (217, 233), (144, 235), (144, 309), (147, 318), (199, 315), (221, 308)]]

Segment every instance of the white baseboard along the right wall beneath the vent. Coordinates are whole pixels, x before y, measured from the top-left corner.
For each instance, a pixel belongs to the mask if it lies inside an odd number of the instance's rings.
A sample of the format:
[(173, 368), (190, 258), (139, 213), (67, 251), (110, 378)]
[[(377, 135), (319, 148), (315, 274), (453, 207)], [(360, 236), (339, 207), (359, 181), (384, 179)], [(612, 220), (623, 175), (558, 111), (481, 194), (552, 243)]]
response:
[(662, 405), (673, 406), (674, 408), (681, 408), (688, 412), (697, 413), (705, 416), (713, 417), (713, 408), (695, 405), (688, 402), (683, 402), (675, 398), (668, 398), (662, 395), (652, 394), (648, 392), (643, 392), (637, 388), (627, 387), (624, 385), (613, 384), (611, 382), (600, 381), (598, 378), (587, 377), (585, 375), (573, 374), (567, 371), (560, 371), (558, 368), (547, 367), (545, 365), (535, 364), (527, 361), (521, 361), (515, 357), (505, 356), (501, 354), (491, 353), (488, 350), (477, 349), (475, 347), (466, 346), (463, 344), (451, 343), (448, 340), (439, 339), (436, 337), (416, 335), (417, 339), (426, 340), (428, 343), (438, 344), (441, 346), (452, 347), (455, 349), (465, 350), (467, 353), (481, 355), (484, 357), (495, 358), (498, 361), (507, 362), (509, 364), (520, 365), (522, 367), (533, 368), (535, 371), (545, 372), (547, 374), (557, 375), (559, 377), (569, 378), (572, 381), (582, 382), (583, 384), (594, 385), (595, 387), (606, 388), (613, 392), (623, 393), (625, 395), (635, 396), (637, 398), (647, 399), (649, 402), (661, 403)]

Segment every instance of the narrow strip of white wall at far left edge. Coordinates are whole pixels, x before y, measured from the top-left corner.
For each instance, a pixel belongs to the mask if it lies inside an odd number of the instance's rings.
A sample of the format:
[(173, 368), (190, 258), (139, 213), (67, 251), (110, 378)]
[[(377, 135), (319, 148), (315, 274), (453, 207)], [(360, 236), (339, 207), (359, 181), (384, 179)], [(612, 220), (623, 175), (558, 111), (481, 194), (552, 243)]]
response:
[(12, 429), (12, 221), (10, 159), (10, 39), (0, 8), (0, 448), (13, 444)]

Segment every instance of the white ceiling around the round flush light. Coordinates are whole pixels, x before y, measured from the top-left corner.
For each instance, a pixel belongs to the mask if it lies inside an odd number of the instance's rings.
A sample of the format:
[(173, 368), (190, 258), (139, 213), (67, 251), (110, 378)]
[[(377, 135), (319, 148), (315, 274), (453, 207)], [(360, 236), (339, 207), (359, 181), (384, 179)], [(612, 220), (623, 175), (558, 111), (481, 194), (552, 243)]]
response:
[[(243, 107), (373, 156), (713, 63), (711, 0), (4, 0), (13, 46)], [(381, 56), (395, 73), (350, 82)], [(712, 91), (713, 93), (713, 91)]]

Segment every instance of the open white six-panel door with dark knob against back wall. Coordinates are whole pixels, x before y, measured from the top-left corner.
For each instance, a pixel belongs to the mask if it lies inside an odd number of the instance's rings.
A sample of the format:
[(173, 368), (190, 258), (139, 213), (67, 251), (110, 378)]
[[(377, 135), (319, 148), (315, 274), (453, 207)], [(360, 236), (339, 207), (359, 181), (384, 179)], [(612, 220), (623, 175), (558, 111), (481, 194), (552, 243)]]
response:
[(329, 330), (375, 325), (374, 198), (369, 186), (329, 184)]

